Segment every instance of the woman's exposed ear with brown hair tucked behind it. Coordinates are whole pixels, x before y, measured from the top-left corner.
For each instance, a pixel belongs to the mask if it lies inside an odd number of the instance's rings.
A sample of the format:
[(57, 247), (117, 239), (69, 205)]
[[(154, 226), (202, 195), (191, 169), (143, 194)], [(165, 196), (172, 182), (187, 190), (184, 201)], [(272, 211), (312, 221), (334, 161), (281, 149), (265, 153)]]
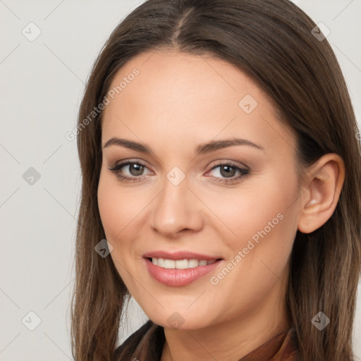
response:
[(329, 220), (336, 209), (344, 180), (345, 164), (338, 154), (325, 154), (307, 169), (298, 219), (300, 232), (311, 233)]

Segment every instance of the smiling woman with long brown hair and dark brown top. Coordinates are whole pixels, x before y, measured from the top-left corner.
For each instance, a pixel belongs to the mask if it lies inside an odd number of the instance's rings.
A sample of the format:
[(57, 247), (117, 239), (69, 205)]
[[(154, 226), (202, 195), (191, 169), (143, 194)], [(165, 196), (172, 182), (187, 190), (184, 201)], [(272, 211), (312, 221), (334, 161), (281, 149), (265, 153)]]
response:
[[(355, 129), (290, 1), (136, 8), (80, 107), (75, 360), (353, 360)], [(116, 348), (130, 295), (149, 322)]]

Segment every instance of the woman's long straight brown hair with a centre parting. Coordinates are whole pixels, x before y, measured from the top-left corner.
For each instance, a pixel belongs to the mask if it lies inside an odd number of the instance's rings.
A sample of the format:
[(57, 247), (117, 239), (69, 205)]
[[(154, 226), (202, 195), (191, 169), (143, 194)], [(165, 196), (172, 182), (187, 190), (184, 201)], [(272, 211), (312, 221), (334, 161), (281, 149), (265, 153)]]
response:
[[(361, 267), (360, 143), (336, 56), (326, 39), (314, 36), (314, 28), (288, 0), (148, 0), (111, 33), (87, 80), (76, 131), (82, 192), (71, 305), (75, 360), (112, 359), (129, 298), (111, 257), (94, 251), (105, 238), (97, 204), (102, 112), (91, 119), (89, 114), (104, 102), (126, 61), (161, 48), (211, 54), (250, 75), (274, 99), (281, 120), (295, 130), (301, 166), (327, 153), (343, 158), (345, 182), (334, 214), (317, 231), (298, 231), (295, 237), (286, 305), (300, 360), (353, 360)], [(331, 320), (322, 331), (311, 322), (319, 311)]]

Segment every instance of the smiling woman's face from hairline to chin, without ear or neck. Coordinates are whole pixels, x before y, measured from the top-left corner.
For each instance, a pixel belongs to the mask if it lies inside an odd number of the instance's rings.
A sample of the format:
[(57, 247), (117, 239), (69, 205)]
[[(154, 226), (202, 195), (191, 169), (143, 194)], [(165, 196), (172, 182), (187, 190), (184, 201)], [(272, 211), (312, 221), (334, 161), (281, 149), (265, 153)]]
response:
[(269, 97), (230, 63), (177, 51), (131, 59), (109, 90), (99, 212), (133, 298), (165, 327), (274, 322), (301, 190)]

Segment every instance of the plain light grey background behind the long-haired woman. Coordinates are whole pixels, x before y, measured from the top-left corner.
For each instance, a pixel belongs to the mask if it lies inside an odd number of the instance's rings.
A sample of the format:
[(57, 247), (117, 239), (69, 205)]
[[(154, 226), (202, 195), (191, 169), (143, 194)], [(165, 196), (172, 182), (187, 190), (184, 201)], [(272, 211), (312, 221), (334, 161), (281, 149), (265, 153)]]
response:
[[(73, 287), (80, 169), (73, 130), (84, 83), (111, 30), (142, 1), (0, 0), (0, 360), (73, 360)], [(360, 122), (361, 0), (295, 1), (328, 39), (341, 63)], [(22, 33), (41, 30), (30, 42)], [(34, 36), (36, 28), (32, 26)], [(356, 101), (358, 99), (358, 102)], [(41, 178), (29, 185), (30, 167)], [(360, 294), (360, 287), (359, 287)], [(361, 299), (355, 353), (361, 360)], [(41, 323), (34, 331), (35, 312)], [(147, 317), (133, 302), (120, 340)], [(29, 319), (30, 317), (30, 319)], [(27, 322), (26, 322), (27, 320)], [(30, 322), (31, 320), (31, 322)]]

